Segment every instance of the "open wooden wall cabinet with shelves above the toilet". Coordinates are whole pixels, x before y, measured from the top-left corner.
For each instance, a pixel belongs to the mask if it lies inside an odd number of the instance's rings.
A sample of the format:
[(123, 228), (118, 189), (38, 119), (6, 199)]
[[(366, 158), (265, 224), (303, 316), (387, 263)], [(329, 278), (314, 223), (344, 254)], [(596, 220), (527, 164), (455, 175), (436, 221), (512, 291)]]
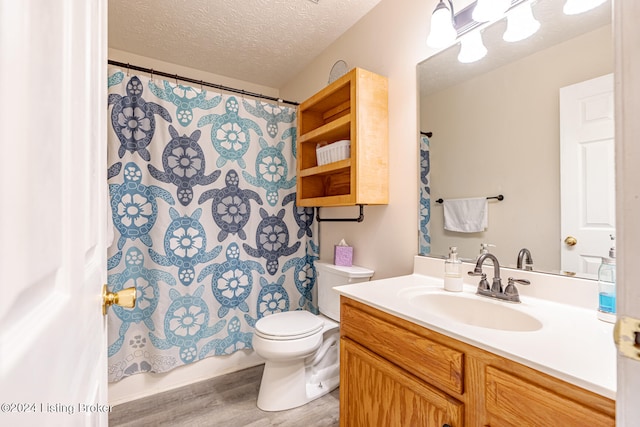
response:
[[(354, 68), (298, 108), (298, 206), (387, 204), (387, 79)], [(349, 140), (347, 158), (320, 164), (316, 147)], [(337, 145), (336, 145), (337, 147)]]

